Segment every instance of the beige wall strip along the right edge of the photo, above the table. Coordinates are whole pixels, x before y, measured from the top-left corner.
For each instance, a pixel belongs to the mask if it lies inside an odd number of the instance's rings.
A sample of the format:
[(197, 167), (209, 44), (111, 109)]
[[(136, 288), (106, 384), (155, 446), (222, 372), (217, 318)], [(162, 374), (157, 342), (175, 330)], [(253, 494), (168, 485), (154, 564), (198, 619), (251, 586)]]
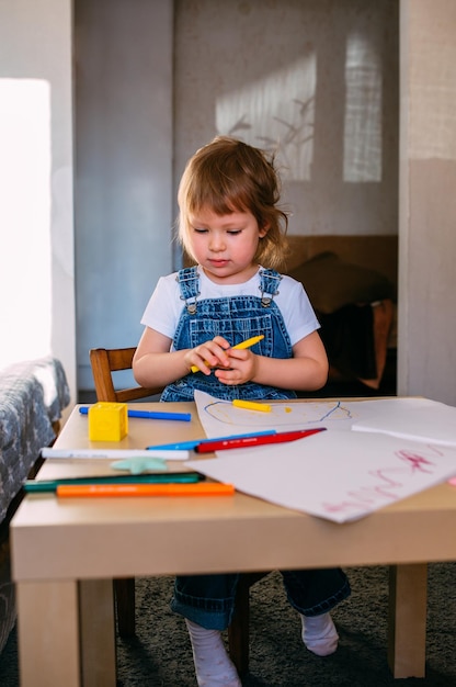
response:
[(400, 394), (456, 405), (456, 3), (401, 2)]

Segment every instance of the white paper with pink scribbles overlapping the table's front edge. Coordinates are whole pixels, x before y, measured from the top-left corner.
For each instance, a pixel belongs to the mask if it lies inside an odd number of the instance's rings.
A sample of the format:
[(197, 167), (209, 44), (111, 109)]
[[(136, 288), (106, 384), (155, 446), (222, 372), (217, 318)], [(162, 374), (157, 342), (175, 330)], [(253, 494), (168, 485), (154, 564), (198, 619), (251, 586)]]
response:
[(344, 522), (456, 475), (456, 448), (329, 429), (186, 464), (251, 496)]

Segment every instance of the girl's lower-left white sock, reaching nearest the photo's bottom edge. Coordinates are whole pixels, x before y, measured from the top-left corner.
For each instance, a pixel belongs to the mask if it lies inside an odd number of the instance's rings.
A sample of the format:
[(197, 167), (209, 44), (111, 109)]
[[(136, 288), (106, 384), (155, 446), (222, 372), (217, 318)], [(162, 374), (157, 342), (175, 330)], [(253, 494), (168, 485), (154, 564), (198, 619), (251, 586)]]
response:
[(218, 630), (206, 630), (191, 620), (185, 619), (185, 622), (192, 642), (198, 687), (241, 687), (221, 633)]

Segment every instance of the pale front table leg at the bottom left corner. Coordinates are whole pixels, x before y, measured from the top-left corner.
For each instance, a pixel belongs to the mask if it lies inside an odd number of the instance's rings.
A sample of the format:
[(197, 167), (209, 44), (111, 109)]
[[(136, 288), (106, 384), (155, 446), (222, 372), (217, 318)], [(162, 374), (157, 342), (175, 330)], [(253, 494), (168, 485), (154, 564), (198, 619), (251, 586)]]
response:
[(16, 584), (21, 687), (80, 687), (76, 582)]

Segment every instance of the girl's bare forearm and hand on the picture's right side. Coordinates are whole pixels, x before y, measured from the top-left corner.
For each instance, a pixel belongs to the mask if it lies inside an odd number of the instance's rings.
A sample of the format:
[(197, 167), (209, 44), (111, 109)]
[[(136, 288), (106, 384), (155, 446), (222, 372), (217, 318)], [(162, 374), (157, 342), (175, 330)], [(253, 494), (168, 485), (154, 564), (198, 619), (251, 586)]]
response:
[(256, 384), (316, 391), (328, 380), (328, 358), (318, 331), (312, 331), (295, 344), (293, 358), (266, 358), (250, 350), (229, 351), (230, 370), (216, 370), (215, 374), (225, 384)]

